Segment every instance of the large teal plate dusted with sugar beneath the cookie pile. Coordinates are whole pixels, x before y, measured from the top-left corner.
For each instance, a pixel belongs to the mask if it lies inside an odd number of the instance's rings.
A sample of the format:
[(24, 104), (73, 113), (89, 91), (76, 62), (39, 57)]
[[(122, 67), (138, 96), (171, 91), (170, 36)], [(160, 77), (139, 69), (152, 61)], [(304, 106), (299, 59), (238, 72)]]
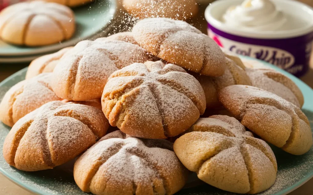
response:
[[(269, 64), (267, 64), (269, 65)], [(293, 75), (280, 70), (272, 65), (272, 68), (282, 72), (292, 79), (301, 89), (305, 104), (303, 105), (302, 111), (309, 118), (311, 128), (313, 127), (313, 90), (304, 84), (301, 80), (297, 79)], [(0, 83), (0, 100), (3, 95), (12, 87), (14, 84), (25, 78), (27, 68), (18, 71), (11, 75), (6, 80)], [(73, 163), (74, 161), (68, 162), (62, 166), (55, 167), (54, 169), (37, 171), (37, 172), (24, 172), (14, 167), (9, 166), (2, 153), (3, 142), (5, 136), (10, 131), (10, 128), (0, 123), (0, 172), (3, 173), (10, 180), (23, 187), (24, 189), (36, 193), (36, 194), (89, 194), (82, 192), (74, 182), (73, 178)], [(312, 130), (313, 131), (313, 130)], [(259, 193), (262, 195), (284, 195), (302, 184), (307, 182), (313, 177), (313, 148), (310, 149), (306, 154), (301, 156), (294, 156), (280, 150), (275, 146), (271, 146), (278, 164), (277, 178), (274, 185), (268, 190)], [(177, 194), (184, 195), (234, 195), (234, 193), (219, 190), (215, 187), (203, 184), (197, 187), (189, 187), (182, 189)]]

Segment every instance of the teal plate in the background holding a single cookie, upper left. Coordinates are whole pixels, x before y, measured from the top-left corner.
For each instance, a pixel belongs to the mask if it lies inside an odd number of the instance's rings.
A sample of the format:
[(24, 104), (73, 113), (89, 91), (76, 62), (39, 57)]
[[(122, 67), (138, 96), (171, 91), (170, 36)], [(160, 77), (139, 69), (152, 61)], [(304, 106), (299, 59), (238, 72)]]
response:
[(109, 26), (115, 16), (116, 9), (117, 4), (115, 0), (95, 0), (93, 3), (73, 8), (76, 30), (71, 39), (42, 47), (17, 46), (0, 40), (0, 56), (12, 57), (52, 53), (64, 47), (73, 46), (81, 40), (93, 37)]

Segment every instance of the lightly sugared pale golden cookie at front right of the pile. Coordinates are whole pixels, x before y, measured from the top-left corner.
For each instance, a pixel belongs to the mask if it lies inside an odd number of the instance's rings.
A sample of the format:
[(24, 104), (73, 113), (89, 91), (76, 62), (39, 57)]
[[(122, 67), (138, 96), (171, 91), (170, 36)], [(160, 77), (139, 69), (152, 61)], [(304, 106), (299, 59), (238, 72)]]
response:
[(233, 117), (200, 118), (174, 143), (174, 151), (198, 178), (220, 189), (255, 194), (271, 187), (277, 163), (263, 140)]

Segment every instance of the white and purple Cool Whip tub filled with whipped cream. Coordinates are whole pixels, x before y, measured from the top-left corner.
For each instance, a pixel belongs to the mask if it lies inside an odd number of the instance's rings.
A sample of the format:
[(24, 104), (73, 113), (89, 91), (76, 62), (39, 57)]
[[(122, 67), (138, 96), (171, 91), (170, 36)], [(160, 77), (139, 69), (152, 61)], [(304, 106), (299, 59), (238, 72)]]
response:
[(296, 76), (309, 68), (313, 9), (294, 0), (219, 0), (205, 11), (208, 35), (237, 54)]

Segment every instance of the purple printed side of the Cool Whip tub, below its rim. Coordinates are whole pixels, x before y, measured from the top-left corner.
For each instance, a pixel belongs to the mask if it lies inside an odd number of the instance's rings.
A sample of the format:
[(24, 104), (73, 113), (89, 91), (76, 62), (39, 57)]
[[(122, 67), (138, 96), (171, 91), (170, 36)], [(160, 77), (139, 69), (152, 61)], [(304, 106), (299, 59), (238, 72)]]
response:
[(209, 24), (208, 35), (229, 51), (264, 60), (295, 76), (300, 77), (309, 69), (313, 32), (295, 38), (257, 39), (225, 33)]

